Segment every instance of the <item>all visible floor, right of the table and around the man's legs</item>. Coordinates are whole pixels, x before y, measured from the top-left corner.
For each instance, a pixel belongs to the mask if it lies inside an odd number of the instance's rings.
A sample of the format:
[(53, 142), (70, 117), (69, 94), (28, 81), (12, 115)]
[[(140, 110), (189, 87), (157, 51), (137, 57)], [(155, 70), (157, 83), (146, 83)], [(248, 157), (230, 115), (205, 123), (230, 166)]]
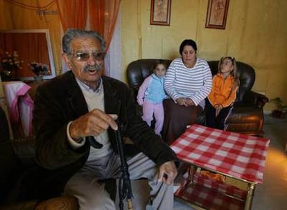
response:
[[(265, 137), (270, 139), (266, 159), (263, 184), (255, 189), (252, 210), (286, 210), (287, 209), (287, 120), (276, 120), (266, 116), (263, 128)], [(148, 184), (144, 180), (132, 182), (134, 193), (134, 210), (144, 209), (148, 198)], [(146, 192), (146, 193), (143, 193)], [(182, 202), (175, 201), (173, 209), (192, 209)]]

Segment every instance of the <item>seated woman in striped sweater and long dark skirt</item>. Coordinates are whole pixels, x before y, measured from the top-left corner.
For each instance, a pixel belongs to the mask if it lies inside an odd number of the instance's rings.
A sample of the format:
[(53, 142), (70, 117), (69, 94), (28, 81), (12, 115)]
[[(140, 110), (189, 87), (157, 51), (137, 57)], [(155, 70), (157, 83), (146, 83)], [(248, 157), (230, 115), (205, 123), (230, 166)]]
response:
[(171, 62), (164, 88), (171, 99), (164, 100), (163, 140), (171, 144), (193, 124), (205, 108), (205, 98), (212, 86), (212, 75), (207, 61), (196, 56), (195, 41), (185, 39), (180, 44), (180, 55)]

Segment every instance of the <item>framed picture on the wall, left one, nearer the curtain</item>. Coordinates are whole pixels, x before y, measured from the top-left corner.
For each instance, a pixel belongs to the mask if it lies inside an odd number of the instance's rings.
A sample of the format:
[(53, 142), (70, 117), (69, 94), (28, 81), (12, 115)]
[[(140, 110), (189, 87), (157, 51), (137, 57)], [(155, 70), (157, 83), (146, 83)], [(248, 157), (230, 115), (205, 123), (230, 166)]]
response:
[(171, 21), (171, 0), (151, 0), (150, 25), (169, 26)]

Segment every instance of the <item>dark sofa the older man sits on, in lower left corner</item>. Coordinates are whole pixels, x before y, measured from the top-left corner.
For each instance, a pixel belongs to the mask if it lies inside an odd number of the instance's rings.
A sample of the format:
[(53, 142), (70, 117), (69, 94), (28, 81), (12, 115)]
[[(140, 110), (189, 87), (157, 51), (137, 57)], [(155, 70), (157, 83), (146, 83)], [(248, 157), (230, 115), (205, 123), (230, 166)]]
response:
[[(10, 140), (8, 118), (0, 106), (0, 210), (76, 210), (78, 200), (53, 193), (47, 197), (41, 187), (40, 166), (34, 160), (35, 139)], [(108, 179), (105, 189), (116, 198), (116, 180)], [(36, 193), (35, 193), (36, 192)]]

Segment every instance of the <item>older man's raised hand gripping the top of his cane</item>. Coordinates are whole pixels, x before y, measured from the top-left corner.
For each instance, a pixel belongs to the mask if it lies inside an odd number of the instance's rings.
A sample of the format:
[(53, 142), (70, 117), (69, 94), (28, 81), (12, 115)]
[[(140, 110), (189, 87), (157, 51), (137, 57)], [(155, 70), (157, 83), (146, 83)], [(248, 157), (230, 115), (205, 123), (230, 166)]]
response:
[(118, 125), (114, 120), (117, 117), (117, 115), (108, 115), (99, 109), (94, 109), (72, 122), (70, 135), (74, 140), (78, 140), (89, 135), (100, 135), (109, 127), (116, 131)]

